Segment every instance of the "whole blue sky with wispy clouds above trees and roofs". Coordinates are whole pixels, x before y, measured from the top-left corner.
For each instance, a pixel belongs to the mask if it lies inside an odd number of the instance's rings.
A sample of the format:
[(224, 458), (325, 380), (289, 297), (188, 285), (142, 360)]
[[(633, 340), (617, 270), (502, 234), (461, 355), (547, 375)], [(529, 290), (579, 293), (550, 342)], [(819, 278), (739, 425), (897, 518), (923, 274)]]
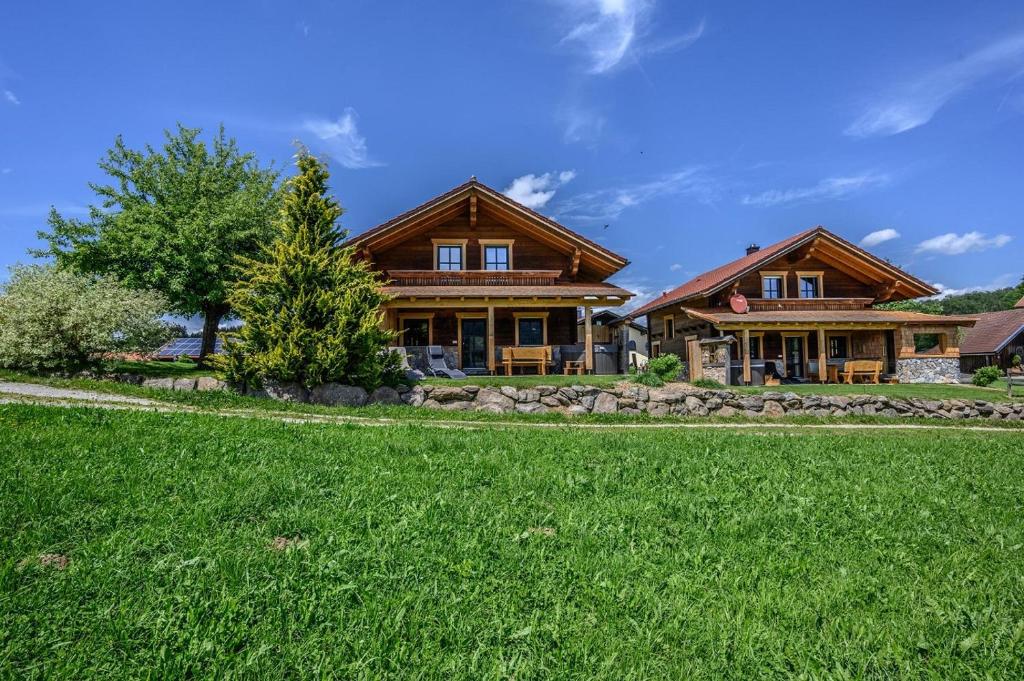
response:
[[(950, 290), (1024, 272), (1020, 2), (22, 3), (0, 10), (0, 265), (121, 133), (330, 156), (360, 231), (476, 175), (641, 297), (815, 224)], [(607, 226), (605, 226), (607, 225)]]

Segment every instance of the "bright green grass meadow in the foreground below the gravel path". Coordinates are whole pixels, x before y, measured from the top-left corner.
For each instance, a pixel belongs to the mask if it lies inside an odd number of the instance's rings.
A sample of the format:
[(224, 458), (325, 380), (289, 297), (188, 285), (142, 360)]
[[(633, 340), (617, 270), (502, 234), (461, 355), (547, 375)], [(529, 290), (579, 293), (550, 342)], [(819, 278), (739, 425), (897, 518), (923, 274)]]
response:
[(1024, 674), (1016, 433), (6, 406), (0, 453), (4, 677)]

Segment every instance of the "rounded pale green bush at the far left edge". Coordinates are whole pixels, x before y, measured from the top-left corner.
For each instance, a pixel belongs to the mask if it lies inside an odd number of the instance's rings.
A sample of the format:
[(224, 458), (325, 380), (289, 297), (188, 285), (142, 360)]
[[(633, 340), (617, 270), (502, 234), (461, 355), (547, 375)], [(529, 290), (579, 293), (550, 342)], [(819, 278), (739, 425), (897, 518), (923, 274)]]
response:
[(53, 265), (15, 266), (0, 292), (0, 366), (29, 371), (81, 369), (106, 352), (153, 350), (168, 325), (167, 302)]

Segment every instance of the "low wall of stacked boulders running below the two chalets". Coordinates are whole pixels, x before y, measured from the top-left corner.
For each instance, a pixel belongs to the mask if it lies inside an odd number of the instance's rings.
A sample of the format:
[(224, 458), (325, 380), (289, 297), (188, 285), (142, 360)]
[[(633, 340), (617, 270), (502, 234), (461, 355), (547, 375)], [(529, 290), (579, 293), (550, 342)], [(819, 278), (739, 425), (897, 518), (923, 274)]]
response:
[(416, 386), (401, 401), (454, 412), (485, 411), (496, 414), (563, 413), (649, 414), (664, 416), (887, 416), (934, 419), (1024, 419), (1024, 403), (988, 402), (981, 399), (894, 398), (884, 395), (809, 395), (766, 391), (743, 394), (731, 390), (702, 390), (673, 383), (646, 388), (623, 383), (614, 388), (573, 385), (535, 388), (487, 388), (475, 385)]

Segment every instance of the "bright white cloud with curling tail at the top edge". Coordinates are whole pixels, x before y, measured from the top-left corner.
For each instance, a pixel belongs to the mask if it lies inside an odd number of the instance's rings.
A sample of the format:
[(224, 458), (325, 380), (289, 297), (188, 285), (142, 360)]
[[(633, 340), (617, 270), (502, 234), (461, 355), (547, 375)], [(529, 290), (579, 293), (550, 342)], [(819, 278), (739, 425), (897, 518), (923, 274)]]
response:
[(628, 54), (655, 54), (688, 47), (703, 34), (705, 23), (678, 36), (644, 42), (654, 0), (560, 0), (570, 28), (562, 44), (580, 46), (591, 74), (614, 69)]

